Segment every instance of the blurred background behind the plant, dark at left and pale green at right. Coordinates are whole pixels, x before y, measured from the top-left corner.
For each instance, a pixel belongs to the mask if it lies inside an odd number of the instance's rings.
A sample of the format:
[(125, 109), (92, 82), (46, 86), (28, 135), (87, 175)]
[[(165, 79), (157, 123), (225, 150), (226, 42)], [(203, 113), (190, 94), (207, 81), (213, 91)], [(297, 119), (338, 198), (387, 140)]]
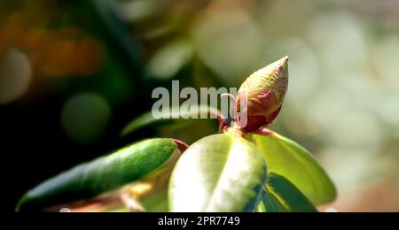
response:
[(148, 128), (153, 88), (239, 87), (290, 56), (271, 126), (339, 189), (322, 211), (399, 211), (399, 1), (0, 0), (0, 152), (12, 211), (76, 163), (156, 135), (185, 142), (215, 122)]

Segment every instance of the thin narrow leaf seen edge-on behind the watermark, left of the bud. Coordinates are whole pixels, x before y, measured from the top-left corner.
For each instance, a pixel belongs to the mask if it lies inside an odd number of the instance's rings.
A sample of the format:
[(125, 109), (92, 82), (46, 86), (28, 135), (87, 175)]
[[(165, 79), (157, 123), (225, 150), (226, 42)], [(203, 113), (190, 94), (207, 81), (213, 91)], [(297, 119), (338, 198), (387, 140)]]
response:
[(176, 121), (182, 122), (184, 120), (187, 120), (183, 118), (192, 118), (193, 116), (198, 116), (198, 118), (200, 118), (200, 114), (213, 114), (216, 116), (217, 114), (220, 114), (220, 111), (207, 106), (198, 106), (192, 108), (192, 110), (190, 111), (180, 111), (179, 108), (170, 108), (169, 111), (163, 111), (161, 113), (160, 119), (155, 119), (153, 117), (153, 113), (149, 111), (130, 121), (129, 124), (123, 128), (121, 136), (131, 134), (144, 126), (154, 124), (168, 124)]

